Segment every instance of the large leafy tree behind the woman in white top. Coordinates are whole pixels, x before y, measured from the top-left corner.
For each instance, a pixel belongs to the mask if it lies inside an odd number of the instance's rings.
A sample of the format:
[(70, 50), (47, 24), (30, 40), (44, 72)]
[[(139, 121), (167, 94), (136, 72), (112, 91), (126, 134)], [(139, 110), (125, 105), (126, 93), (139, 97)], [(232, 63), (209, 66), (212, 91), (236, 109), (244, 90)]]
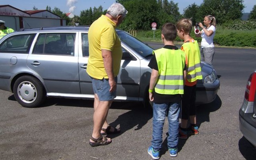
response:
[(222, 24), (228, 20), (239, 19), (243, 15), (244, 0), (204, 0), (200, 6), (199, 15), (202, 17), (212, 15), (217, 23)]

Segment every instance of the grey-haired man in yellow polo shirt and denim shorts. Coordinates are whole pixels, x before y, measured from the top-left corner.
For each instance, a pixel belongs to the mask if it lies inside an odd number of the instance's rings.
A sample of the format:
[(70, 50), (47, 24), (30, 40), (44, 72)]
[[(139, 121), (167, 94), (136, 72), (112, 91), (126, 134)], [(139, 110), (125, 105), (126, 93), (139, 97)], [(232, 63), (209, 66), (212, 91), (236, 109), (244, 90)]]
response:
[(124, 20), (127, 10), (120, 3), (113, 3), (95, 20), (88, 31), (89, 59), (86, 72), (92, 79), (94, 91), (92, 147), (111, 143), (102, 135), (119, 133), (106, 120), (112, 100), (116, 97), (117, 75), (120, 69), (122, 48), (116, 27)]

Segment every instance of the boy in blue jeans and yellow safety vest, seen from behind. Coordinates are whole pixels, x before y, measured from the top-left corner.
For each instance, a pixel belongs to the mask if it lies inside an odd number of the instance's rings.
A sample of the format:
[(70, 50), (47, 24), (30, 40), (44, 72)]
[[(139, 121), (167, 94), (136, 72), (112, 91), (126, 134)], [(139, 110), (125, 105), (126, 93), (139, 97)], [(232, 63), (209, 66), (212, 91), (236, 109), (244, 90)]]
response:
[(186, 75), (185, 53), (173, 41), (177, 36), (175, 25), (165, 23), (162, 27), (164, 47), (153, 51), (148, 66), (152, 68), (149, 84), (149, 100), (153, 103), (153, 134), (148, 154), (159, 159), (166, 112), (168, 113), (167, 145), (170, 156), (177, 156), (179, 141), (179, 115), (181, 95), (184, 93)]

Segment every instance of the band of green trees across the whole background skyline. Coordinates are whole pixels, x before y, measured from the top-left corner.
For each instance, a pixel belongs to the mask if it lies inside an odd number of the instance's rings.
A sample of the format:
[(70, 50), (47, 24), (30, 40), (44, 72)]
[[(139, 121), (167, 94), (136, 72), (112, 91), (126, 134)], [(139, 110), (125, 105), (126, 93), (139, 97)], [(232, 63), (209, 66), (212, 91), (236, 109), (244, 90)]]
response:
[[(172, 0), (116, 0), (127, 10), (128, 14), (124, 21), (118, 26), (123, 30), (151, 30), (152, 22), (157, 23), (157, 28), (161, 28), (166, 22), (176, 23), (180, 18), (191, 18), (193, 25), (196, 22), (203, 22), (204, 16), (212, 15), (216, 18), (217, 24), (240, 19), (244, 9), (244, 0), (203, 0), (200, 6), (195, 3), (189, 4), (181, 15), (178, 3)], [(182, 3), (182, 2), (179, 2)], [(35, 6), (34, 6), (35, 8)], [(102, 6), (91, 7), (80, 12), (80, 16), (70, 19), (59, 8), (50, 6), (47, 10), (66, 19), (68, 25), (79, 23), (80, 25), (91, 25), (93, 21), (101, 15), (105, 15)], [(250, 13), (250, 19), (255, 19), (256, 5)]]

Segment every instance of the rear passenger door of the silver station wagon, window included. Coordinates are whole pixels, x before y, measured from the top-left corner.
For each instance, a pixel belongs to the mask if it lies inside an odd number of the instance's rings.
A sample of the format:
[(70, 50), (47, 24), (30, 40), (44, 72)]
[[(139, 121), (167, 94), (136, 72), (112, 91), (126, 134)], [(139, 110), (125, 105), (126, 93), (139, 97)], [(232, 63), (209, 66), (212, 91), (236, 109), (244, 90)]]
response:
[(81, 93), (76, 40), (76, 32), (39, 33), (27, 65), (43, 79), (48, 93)]

